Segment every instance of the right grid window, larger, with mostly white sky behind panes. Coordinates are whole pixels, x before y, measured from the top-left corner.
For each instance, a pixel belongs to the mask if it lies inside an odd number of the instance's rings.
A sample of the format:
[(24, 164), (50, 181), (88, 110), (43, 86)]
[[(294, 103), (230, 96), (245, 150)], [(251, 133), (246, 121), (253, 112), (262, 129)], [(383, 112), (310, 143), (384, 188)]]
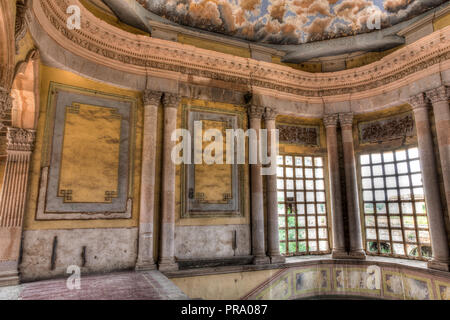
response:
[(431, 258), (431, 239), (417, 148), (360, 156), (366, 251)]

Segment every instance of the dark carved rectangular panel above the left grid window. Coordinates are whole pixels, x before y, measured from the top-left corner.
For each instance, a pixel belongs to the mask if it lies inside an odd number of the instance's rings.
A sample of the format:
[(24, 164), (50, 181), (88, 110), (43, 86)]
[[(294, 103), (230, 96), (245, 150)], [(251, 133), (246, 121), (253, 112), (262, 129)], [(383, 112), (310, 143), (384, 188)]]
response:
[(277, 125), (280, 142), (303, 146), (319, 146), (319, 128), (293, 125)]

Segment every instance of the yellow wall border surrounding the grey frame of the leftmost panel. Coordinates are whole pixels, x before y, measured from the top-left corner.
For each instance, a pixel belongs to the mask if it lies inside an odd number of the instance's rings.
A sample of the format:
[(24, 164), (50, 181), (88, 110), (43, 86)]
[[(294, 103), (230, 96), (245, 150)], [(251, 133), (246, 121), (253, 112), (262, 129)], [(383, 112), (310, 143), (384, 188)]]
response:
[[(133, 215), (132, 219), (117, 220), (76, 220), (76, 221), (36, 221), (36, 206), (39, 192), (39, 180), (42, 160), (42, 148), (44, 143), (44, 128), (47, 116), (47, 101), (49, 97), (50, 82), (57, 82), (79, 88), (97, 90), (108, 94), (121, 95), (131, 97), (137, 100), (137, 122), (136, 122), (136, 138), (135, 138), (135, 155), (134, 155), (134, 185), (133, 185)], [(141, 172), (141, 152), (142, 152), (142, 119), (143, 108), (140, 93), (137, 91), (125, 90), (91, 81), (75, 75), (73, 73), (47, 67), (40, 66), (40, 114), (38, 129), (36, 134), (36, 147), (33, 152), (29, 193), (27, 198), (27, 208), (24, 218), (25, 230), (42, 230), (42, 229), (76, 229), (76, 228), (130, 228), (138, 225), (139, 216), (139, 199), (140, 199), (140, 172)]]

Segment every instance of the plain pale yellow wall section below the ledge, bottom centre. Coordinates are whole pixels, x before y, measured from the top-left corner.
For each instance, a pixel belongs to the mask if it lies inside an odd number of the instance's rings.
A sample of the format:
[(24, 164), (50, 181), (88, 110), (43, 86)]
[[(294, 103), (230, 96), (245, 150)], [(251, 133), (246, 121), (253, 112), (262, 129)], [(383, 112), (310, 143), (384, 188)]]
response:
[(263, 270), (171, 279), (189, 298), (238, 300), (280, 270)]

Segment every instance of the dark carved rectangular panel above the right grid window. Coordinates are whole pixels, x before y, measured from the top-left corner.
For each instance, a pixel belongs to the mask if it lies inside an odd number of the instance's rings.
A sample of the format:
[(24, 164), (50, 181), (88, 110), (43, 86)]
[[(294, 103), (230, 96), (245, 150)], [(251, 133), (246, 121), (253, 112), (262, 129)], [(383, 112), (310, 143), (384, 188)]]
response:
[(382, 143), (405, 139), (414, 135), (414, 119), (411, 113), (389, 119), (361, 123), (361, 143)]

